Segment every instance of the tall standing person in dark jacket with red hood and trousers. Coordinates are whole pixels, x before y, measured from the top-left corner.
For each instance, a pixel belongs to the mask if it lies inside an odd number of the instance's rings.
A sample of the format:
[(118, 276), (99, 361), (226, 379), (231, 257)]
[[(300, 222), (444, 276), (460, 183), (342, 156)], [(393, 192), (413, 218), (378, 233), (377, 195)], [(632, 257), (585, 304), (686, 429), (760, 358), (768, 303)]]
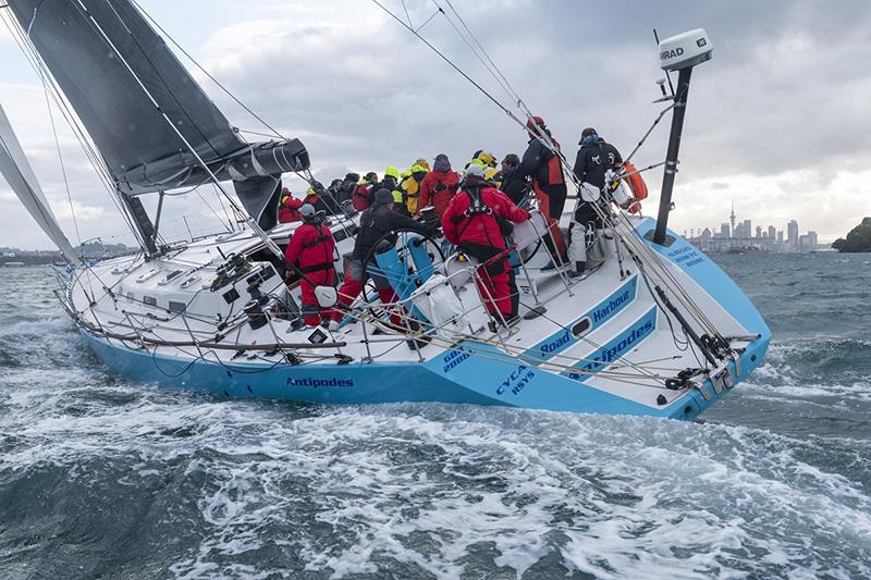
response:
[(520, 164), (505, 172), (505, 178), (527, 175), (532, 177), (532, 189), (536, 192), (538, 208), (548, 223), (548, 233), (550, 234), (544, 236), (544, 245), (551, 255), (551, 261), (542, 270), (553, 270), (556, 268), (555, 260), (561, 263), (566, 261), (565, 240), (560, 232), (560, 217), (563, 214), (567, 190), (560, 156), (541, 143), (539, 137), (545, 137), (553, 141), (557, 151), (560, 144), (551, 136), (550, 129), (540, 116), (530, 119), (526, 123), (526, 128), (529, 134), (529, 145)]

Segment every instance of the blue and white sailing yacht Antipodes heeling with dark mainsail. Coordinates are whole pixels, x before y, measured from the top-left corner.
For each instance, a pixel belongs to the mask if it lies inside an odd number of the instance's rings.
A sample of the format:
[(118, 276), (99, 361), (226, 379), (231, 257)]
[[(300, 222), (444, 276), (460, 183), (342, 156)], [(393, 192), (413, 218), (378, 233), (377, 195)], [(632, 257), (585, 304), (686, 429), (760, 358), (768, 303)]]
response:
[[(299, 287), (285, 280), (283, 248), (298, 224), (275, 217), (283, 176), (312, 180), (300, 140), (244, 140), (133, 0), (7, 4), (3, 17), (138, 240), (133, 255), (82, 260), (0, 110), (0, 172), (69, 259), (57, 296), (115, 373), (222, 397), (694, 419), (764, 359), (771, 333), (751, 301), (667, 229), (690, 74), (711, 57), (702, 29), (660, 44), (678, 79), (668, 92), (661, 85), (672, 133), (665, 161), (651, 165), (664, 166), (658, 217), (598, 192), (605, 227), (590, 244), (604, 261), (590, 275), (542, 269), (552, 258), (532, 211), (512, 234), (519, 317), (494, 320), (474, 258), (436, 236), (393, 232), (366, 263), (395, 301), (365, 291), (333, 330), (300, 328)], [(524, 115), (512, 118), (524, 127)], [(536, 138), (561, 155), (543, 132)], [(231, 205), (235, 231), (164, 239), (164, 196), (203, 185)], [(143, 196), (157, 196), (152, 214)], [(571, 220), (561, 217), (564, 235)], [(328, 224), (342, 271), (359, 215), (342, 206)], [(335, 288), (317, 291), (322, 307), (335, 306)]]

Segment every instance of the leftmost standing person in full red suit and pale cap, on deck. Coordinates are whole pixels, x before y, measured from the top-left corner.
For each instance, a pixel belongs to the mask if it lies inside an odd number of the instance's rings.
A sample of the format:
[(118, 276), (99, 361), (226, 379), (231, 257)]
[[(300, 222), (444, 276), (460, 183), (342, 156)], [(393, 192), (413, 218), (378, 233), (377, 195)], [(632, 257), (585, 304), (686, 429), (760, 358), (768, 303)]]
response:
[(330, 310), (322, 310), (318, 305), (315, 287), (335, 285), (333, 268), (335, 239), (323, 223), (322, 213), (316, 212), (314, 206), (304, 203), (299, 208), (299, 213), (303, 223), (291, 236), (291, 243), (284, 251), (284, 260), (289, 266), (289, 274), (292, 274), (294, 269), (305, 274), (300, 276), (299, 284), (303, 292), (303, 316), (306, 325), (314, 328), (330, 317)]

